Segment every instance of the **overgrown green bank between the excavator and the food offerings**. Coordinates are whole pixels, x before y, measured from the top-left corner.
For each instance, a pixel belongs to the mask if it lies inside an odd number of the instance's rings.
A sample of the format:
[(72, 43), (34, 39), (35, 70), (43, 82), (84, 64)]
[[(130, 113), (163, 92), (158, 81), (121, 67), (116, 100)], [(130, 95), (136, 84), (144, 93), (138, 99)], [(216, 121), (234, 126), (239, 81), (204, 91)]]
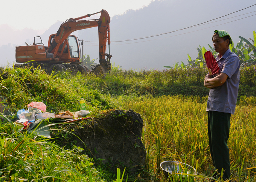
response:
[(75, 76), (69, 72), (48, 75), (40, 67), (6, 69), (2, 72), (1, 96), (8, 103), (6, 112), (17, 112), (17, 108), (26, 108), (32, 101), (43, 101), (48, 111), (76, 111), (80, 107), (80, 97), (85, 98), (87, 109), (111, 108), (100, 91), (88, 89), (85, 81), (84, 75), (79, 73)]

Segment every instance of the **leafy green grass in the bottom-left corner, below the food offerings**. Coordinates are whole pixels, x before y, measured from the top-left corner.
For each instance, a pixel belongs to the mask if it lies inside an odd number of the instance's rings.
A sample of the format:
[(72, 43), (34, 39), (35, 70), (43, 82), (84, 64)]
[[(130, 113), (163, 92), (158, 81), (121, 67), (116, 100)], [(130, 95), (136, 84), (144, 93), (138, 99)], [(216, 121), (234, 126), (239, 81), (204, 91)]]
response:
[(104, 181), (82, 149), (60, 148), (52, 140), (12, 124), (0, 122), (0, 181)]

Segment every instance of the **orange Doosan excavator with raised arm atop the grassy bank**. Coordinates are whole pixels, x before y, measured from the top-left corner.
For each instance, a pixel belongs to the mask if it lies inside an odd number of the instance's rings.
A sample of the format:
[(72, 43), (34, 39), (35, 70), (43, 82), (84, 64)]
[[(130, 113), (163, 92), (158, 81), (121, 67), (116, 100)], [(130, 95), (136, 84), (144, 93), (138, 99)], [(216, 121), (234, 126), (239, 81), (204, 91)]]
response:
[[(101, 13), (99, 19), (84, 19)], [(83, 19), (83, 20), (81, 20)], [(61, 24), (57, 33), (50, 35), (48, 45), (45, 46), (40, 36), (34, 37), (33, 45), (16, 47), (16, 62), (14, 67), (41, 66), (47, 72), (73, 70), (86, 73), (89, 71), (87, 66), (80, 65), (79, 39), (71, 35), (76, 30), (92, 28), (98, 26), (99, 33), (99, 63), (91, 69), (95, 73), (111, 72), (110, 58), (110, 16), (102, 9), (100, 12), (87, 14), (78, 18), (70, 18)], [(35, 43), (35, 39), (41, 40)], [(108, 42), (109, 53), (106, 53)], [(83, 55), (82, 55), (83, 56)]]

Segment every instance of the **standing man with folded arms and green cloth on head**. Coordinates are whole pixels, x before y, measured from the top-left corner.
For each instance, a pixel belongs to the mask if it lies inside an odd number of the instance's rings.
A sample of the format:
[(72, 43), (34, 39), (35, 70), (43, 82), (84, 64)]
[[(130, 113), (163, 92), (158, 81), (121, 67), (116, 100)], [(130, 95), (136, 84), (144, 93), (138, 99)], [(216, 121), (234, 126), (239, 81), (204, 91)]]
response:
[(223, 179), (230, 178), (229, 127), (231, 114), (235, 113), (239, 86), (240, 61), (238, 56), (231, 52), (229, 45), (232, 39), (224, 30), (215, 30), (212, 36), (213, 46), (219, 55), (216, 61), (219, 74), (204, 78), (204, 87), (210, 88), (207, 101), (208, 136), (212, 161), (215, 170), (218, 170), (218, 179), (224, 169)]

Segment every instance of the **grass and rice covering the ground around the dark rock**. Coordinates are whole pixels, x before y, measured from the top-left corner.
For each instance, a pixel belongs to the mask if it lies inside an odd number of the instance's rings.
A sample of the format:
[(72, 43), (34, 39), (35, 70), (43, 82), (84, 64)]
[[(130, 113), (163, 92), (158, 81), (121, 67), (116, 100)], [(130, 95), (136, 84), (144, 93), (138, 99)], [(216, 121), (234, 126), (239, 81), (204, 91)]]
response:
[[(12, 124), (17, 110), (27, 108), (31, 101), (43, 101), (50, 112), (75, 111), (79, 109), (80, 96), (87, 101), (93, 117), (101, 110), (122, 108), (142, 114), (148, 163), (137, 181), (164, 181), (159, 170), (163, 160), (186, 161), (197, 168), (199, 181), (211, 176), (205, 112), (209, 91), (203, 87), (206, 73), (201, 67), (139, 72), (114, 68), (111, 75), (103, 78), (90, 73), (47, 75), (32, 67), (2, 69), (1, 181), (114, 180), (104, 166), (96, 168), (95, 161), (81, 148), (60, 148), (56, 139), (35, 137)], [(229, 139), (232, 175), (238, 181), (255, 179), (255, 80), (255, 67), (241, 68), (239, 104), (232, 116)], [(52, 129), (67, 129), (47, 122)]]

